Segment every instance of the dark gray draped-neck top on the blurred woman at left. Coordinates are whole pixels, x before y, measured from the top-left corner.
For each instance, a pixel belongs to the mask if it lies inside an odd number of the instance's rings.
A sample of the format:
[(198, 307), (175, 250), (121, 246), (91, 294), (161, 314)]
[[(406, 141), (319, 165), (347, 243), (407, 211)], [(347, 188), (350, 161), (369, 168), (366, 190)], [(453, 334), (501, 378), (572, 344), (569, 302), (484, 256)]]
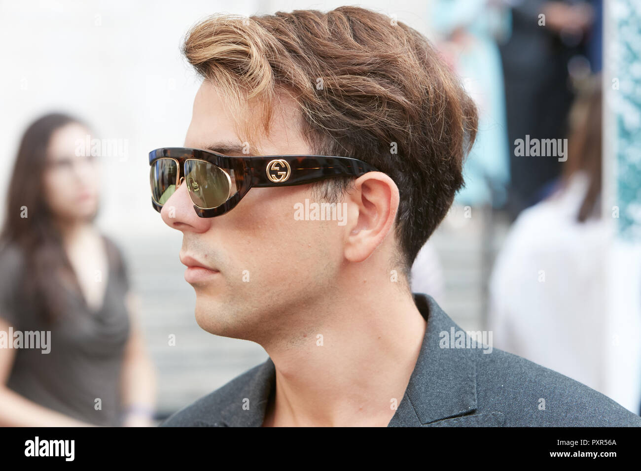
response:
[(81, 293), (68, 290), (69, 307), (53, 324), (47, 324), (21, 294), (22, 283), (28, 282), (24, 254), (16, 245), (0, 249), (0, 317), (13, 329), (0, 331), (0, 348), (17, 347), (6, 384), (11, 390), (90, 424), (120, 426), (129, 283), (121, 251), (103, 237), (109, 273), (102, 277), (107, 283), (102, 307), (93, 311)]

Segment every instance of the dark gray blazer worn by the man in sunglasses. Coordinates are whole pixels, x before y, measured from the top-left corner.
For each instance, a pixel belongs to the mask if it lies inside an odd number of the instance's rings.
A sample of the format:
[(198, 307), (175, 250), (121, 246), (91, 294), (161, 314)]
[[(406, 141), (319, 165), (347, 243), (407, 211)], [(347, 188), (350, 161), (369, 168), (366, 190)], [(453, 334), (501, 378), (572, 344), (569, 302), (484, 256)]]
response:
[[(458, 334), (429, 295), (414, 299), (428, 325), (388, 427), (641, 426), (638, 415), (585, 384)], [(260, 427), (275, 379), (268, 358), (160, 426)]]

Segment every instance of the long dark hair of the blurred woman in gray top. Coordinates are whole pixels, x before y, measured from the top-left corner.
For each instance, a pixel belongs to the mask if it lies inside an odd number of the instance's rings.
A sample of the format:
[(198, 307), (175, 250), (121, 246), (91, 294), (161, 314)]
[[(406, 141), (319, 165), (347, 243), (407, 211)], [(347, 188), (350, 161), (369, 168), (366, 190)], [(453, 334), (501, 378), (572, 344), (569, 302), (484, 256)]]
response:
[(78, 286), (42, 185), (51, 136), (67, 124), (80, 124), (89, 129), (79, 119), (51, 113), (35, 120), (24, 132), (13, 166), (6, 219), (0, 234), (0, 245), (15, 244), (21, 249), (25, 270), (21, 295), (50, 322), (65, 310), (63, 286), (70, 283)]

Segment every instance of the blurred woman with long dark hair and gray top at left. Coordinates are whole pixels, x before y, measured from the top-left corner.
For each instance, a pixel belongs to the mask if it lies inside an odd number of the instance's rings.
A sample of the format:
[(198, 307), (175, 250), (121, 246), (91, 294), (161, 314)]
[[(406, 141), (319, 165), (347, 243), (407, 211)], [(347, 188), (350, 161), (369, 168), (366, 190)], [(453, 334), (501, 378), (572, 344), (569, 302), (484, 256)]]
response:
[[(55, 113), (22, 136), (0, 235), (3, 426), (153, 426), (155, 375), (126, 265), (94, 225), (89, 135)], [(27, 345), (31, 332), (40, 345)]]

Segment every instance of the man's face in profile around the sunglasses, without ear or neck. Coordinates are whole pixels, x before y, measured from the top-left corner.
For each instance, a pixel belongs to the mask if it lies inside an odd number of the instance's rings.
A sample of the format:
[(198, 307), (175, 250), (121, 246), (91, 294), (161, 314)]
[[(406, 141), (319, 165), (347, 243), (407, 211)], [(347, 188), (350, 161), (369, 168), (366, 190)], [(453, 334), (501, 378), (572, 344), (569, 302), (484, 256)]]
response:
[[(269, 155), (312, 153), (300, 135), (293, 102), (281, 103), (271, 134), (258, 145)], [(185, 147), (207, 149), (219, 142), (242, 146), (233, 126), (216, 88), (204, 81), (194, 100)], [(244, 156), (242, 151), (227, 154)], [(185, 183), (179, 186), (161, 214), (167, 225), (183, 233), (183, 263), (208, 269), (187, 269), (185, 274), (196, 290), (199, 326), (262, 345), (277, 337), (292, 338), (292, 333), (301, 338), (317, 333), (316, 328), (311, 331), (318, 326), (314, 318), (296, 319), (292, 313), (306, 303), (316, 304), (319, 296), (333, 296), (349, 224), (296, 220), (294, 205), (313, 197), (310, 185), (252, 188), (228, 213), (200, 218)], [(315, 316), (320, 322), (322, 313)]]

